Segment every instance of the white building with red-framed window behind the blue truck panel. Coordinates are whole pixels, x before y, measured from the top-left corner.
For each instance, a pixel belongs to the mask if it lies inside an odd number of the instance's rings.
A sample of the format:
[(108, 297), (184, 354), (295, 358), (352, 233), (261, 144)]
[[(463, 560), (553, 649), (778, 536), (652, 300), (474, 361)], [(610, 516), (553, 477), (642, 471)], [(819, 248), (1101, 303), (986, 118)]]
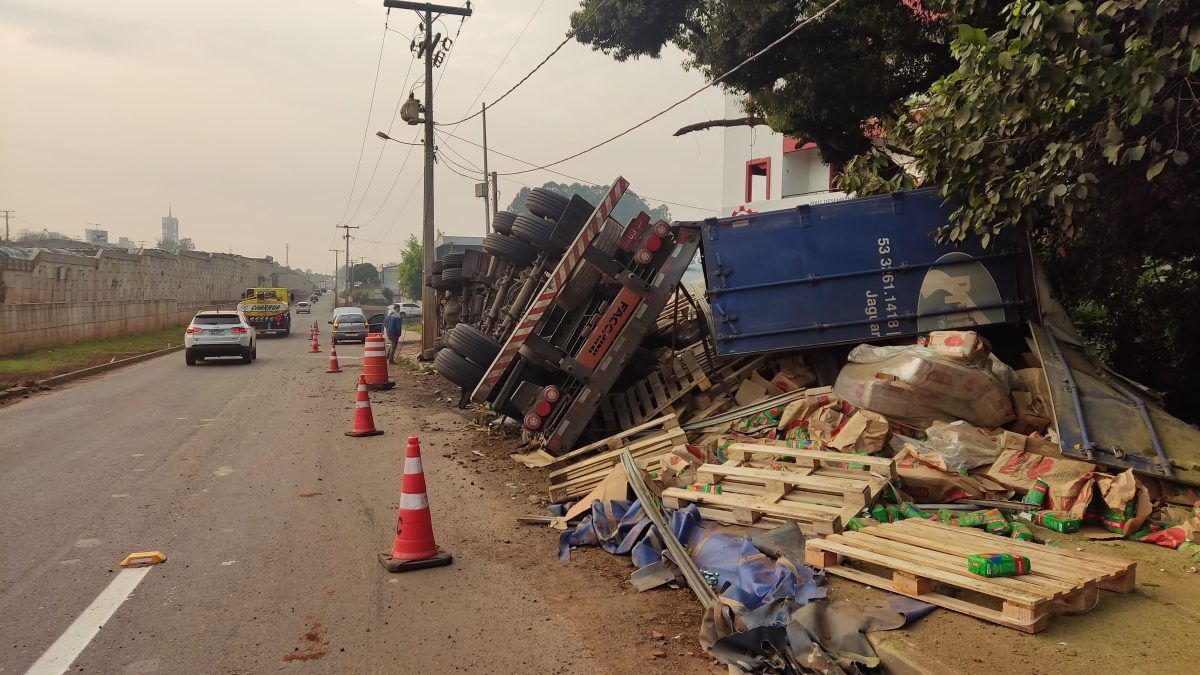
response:
[[(745, 115), (742, 98), (726, 95), (725, 113)], [(836, 172), (821, 159), (816, 143), (766, 126), (726, 127), (721, 216), (844, 199), (846, 193), (833, 187)]]

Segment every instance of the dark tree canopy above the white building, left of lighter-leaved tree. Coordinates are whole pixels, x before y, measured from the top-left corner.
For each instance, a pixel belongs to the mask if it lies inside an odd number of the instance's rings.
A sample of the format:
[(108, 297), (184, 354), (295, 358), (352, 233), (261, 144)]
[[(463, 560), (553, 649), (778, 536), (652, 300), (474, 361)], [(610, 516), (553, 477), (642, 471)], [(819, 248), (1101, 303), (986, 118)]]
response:
[[(673, 44), (684, 66), (713, 79), (767, 47), (828, 0), (584, 0), (576, 40), (618, 60), (659, 58)], [(593, 14), (594, 12), (594, 14)], [(590, 18), (589, 18), (590, 17)], [(722, 82), (749, 95), (746, 113), (814, 141), (826, 161), (866, 151), (862, 125), (950, 72), (944, 22), (898, 1), (842, 0), (822, 19)]]

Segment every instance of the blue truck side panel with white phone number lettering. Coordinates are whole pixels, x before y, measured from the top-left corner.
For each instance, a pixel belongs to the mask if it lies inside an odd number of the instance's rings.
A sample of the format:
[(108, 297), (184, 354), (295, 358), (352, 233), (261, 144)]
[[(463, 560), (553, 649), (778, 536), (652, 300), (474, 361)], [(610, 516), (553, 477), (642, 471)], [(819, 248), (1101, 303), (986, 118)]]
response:
[(704, 222), (720, 356), (1020, 321), (1018, 247), (938, 244), (923, 189)]

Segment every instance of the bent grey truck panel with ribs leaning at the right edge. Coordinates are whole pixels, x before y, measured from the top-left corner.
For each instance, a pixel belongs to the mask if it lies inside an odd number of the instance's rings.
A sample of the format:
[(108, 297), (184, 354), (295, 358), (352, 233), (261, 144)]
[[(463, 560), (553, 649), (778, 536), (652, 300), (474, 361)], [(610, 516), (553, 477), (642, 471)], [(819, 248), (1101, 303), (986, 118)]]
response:
[(1030, 324), (1064, 455), (1200, 485), (1200, 429), (1102, 371), (1084, 350)]

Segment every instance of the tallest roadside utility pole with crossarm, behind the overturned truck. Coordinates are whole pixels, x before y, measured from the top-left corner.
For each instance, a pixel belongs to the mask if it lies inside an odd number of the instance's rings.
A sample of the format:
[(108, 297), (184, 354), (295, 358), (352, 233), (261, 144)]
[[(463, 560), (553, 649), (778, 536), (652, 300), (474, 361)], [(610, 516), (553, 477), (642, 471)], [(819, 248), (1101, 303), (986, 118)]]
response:
[[(433, 13), (469, 17), (470, 2), (466, 7), (409, 2), (407, 0), (383, 0), (383, 6), (413, 10), (425, 24), (425, 40), (419, 55), (425, 56), (425, 217), (421, 223), (422, 279), (433, 274)], [(440, 59), (438, 59), (440, 62)], [(433, 348), (437, 333), (437, 297), (433, 288), (421, 285), (421, 351)]]

